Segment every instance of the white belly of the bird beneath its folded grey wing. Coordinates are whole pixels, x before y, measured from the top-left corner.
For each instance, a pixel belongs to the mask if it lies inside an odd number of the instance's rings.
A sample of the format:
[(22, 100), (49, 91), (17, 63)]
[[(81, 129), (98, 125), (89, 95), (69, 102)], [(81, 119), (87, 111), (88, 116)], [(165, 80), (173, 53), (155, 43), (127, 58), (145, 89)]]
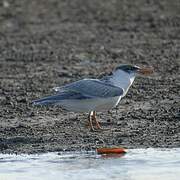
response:
[(110, 98), (94, 98), (82, 100), (63, 100), (58, 105), (68, 111), (90, 112), (90, 111), (108, 111), (115, 107), (121, 99), (121, 96)]

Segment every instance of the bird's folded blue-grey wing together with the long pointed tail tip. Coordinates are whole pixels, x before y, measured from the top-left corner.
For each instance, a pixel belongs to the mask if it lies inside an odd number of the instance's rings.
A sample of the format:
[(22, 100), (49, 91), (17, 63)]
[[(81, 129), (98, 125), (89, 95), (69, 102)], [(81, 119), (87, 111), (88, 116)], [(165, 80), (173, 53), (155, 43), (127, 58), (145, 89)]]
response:
[(83, 79), (54, 88), (56, 94), (33, 101), (35, 105), (58, 104), (62, 100), (122, 96), (123, 89), (96, 79)]

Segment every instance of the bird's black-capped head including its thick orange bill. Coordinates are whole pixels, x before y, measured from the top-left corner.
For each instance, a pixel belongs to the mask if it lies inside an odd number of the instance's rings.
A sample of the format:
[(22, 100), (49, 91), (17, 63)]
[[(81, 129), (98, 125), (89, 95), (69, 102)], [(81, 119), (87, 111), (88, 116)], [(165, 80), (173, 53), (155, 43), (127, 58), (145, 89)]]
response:
[(120, 65), (118, 66), (115, 71), (124, 71), (125, 73), (128, 73), (129, 75), (134, 75), (136, 76), (137, 74), (142, 74), (142, 75), (150, 75), (153, 73), (153, 69), (152, 68), (141, 68), (135, 65), (130, 65), (130, 64), (124, 64), (124, 65)]

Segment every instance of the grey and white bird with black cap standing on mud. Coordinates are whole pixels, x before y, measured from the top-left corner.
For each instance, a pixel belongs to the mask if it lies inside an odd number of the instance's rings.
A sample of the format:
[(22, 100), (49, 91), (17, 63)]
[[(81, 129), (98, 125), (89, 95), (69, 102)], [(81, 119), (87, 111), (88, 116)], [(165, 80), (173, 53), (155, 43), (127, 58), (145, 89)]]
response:
[(99, 79), (82, 79), (64, 86), (55, 87), (51, 96), (34, 100), (33, 105), (57, 105), (67, 111), (88, 113), (91, 131), (103, 130), (96, 112), (105, 112), (116, 107), (127, 94), (138, 74), (150, 75), (152, 67), (121, 64), (111, 74)]

